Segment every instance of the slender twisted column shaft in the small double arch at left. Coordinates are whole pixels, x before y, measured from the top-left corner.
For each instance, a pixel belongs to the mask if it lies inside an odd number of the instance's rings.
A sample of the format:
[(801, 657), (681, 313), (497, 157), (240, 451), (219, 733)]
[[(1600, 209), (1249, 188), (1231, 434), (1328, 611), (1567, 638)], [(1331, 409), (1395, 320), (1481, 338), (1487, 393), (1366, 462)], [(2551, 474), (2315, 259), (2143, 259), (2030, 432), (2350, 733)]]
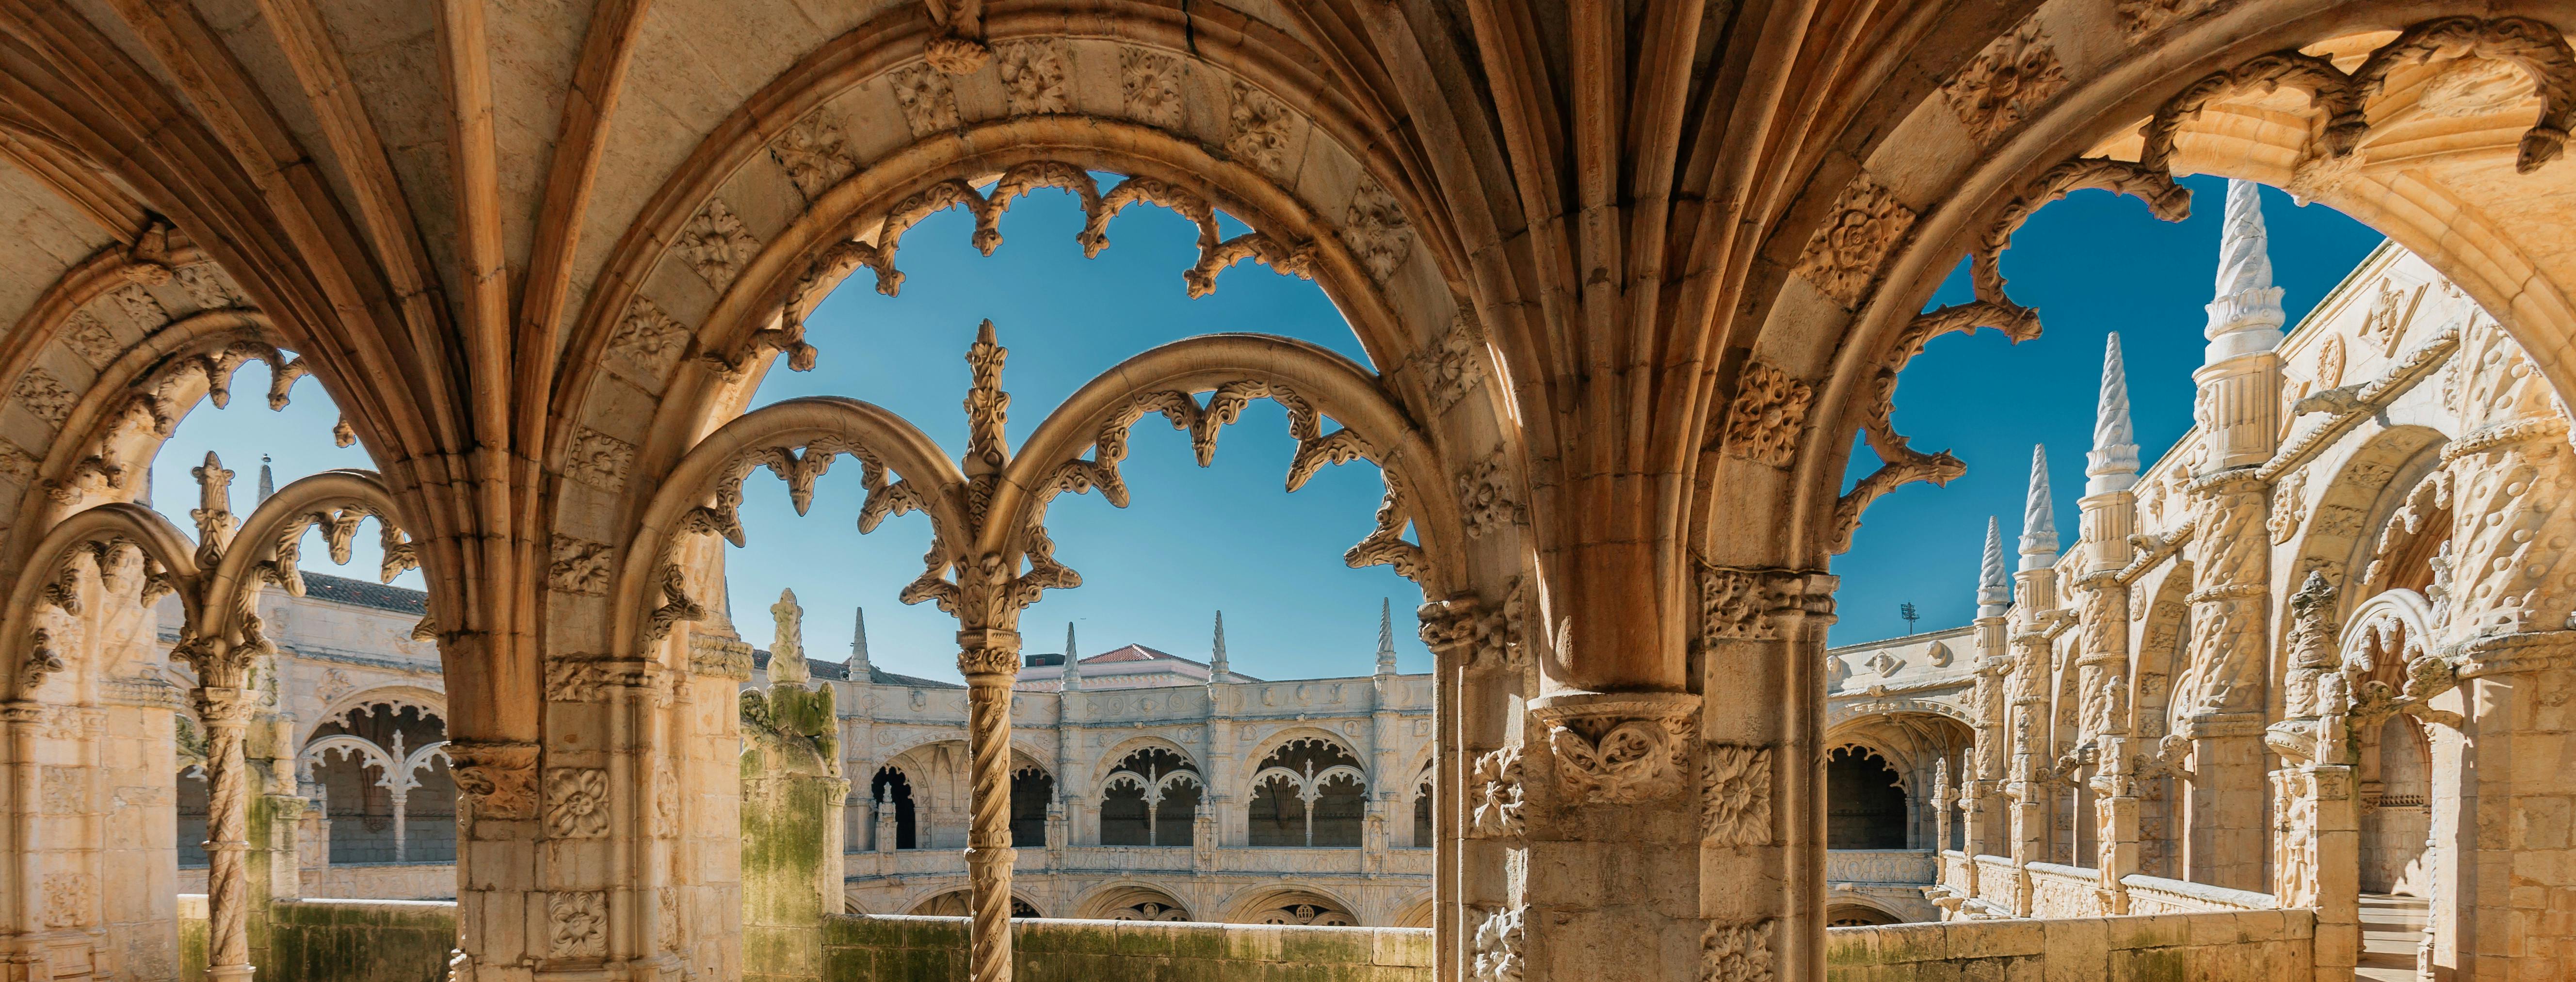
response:
[(242, 732), (258, 693), (204, 686), (206, 722), (206, 979), (250, 979), (250, 763)]

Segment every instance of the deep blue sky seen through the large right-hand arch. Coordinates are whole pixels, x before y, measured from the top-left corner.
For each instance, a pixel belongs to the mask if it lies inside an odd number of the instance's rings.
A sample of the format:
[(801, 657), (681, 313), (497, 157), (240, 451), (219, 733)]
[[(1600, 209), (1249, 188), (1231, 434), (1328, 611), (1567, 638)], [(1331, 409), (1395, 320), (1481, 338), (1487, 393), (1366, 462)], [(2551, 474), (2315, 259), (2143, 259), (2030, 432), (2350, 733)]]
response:
[[(2048, 443), (2058, 541), (2074, 544), (2105, 335), (2120, 332), (2138, 456), (2156, 461), (2192, 428), (2192, 369), (2208, 325), (2202, 304), (2218, 276), (2226, 180), (2182, 183), (2192, 188), (2192, 217), (2179, 224), (2156, 222), (2138, 198), (2107, 191), (2079, 191), (2040, 209), (2012, 237), (2004, 278), (2014, 302), (2040, 309), (2045, 335), (2020, 345), (1994, 330), (1947, 335), (1906, 366), (1896, 384), (1896, 430), (1922, 451), (1950, 448), (1968, 461), (1968, 474), (1947, 487), (1906, 485), (1862, 515), (1852, 552), (1834, 559), (1842, 590), (1832, 644), (1904, 634), (1901, 603), (1917, 606), (1922, 631), (1968, 624), (1986, 515), (2002, 518), (2004, 562), (2014, 562), (2032, 443)], [(2262, 206), (2272, 281), (2282, 286), (2293, 325), (2380, 245), (2365, 224), (2321, 204), (2298, 206), (2275, 188), (2262, 191)], [(1968, 296), (1960, 268), (1935, 304)], [(1844, 479), (1875, 467), (1862, 446)]]

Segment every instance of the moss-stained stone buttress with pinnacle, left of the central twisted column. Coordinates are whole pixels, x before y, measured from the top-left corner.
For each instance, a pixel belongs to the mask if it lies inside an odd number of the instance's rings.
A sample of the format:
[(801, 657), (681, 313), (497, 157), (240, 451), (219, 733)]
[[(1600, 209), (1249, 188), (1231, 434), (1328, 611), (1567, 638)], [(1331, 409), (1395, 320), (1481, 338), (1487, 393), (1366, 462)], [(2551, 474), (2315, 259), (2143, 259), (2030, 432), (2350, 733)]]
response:
[(842, 910), (840, 714), (806, 688), (796, 595), (778, 613), (768, 691), (742, 714), (742, 977), (822, 979), (822, 923)]

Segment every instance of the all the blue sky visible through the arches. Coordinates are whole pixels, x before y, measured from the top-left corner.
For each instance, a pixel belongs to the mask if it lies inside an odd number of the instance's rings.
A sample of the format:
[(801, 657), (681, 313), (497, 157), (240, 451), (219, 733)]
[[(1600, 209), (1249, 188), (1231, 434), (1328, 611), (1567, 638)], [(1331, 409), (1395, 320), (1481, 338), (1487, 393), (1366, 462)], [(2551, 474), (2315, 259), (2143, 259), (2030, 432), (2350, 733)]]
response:
[[(2022, 304), (2040, 307), (2048, 335), (2007, 345), (1996, 332), (1950, 335), (1914, 358), (1896, 394), (1899, 430), (1919, 448), (1953, 448), (1968, 474), (1950, 487), (1909, 485), (1865, 515), (1842, 575), (1834, 642), (1904, 634), (1899, 603), (1922, 608), (1922, 629), (1965, 624), (1973, 613), (1976, 557), (1986, 515), (2017, 534), (2030, 443), (2045, 441), (2058, 487), (2058, 528), (2074, 534), (2084, 482), (2102, 335), (2120, 330), (2130, 369), (2138, 443), (2148, 459), (2190, 425), (2200, 363), (2200, 325), (2218, 253), (2218, 180), (2187, 180), (2195, 217), (2164, 224), (2138, 201), (2084, 191), (2043, 209), (2014, 237), (2004, 273)], [(2272, 258), (2290, 314), (2303, 314), (2378, 235), (2324, 206), (2293, 206), (2264, 191)], [(914, 227), (902, 245), (902, 296), (873, 291), (860, 273), (809, 320), (822, 348), (817, 371), (778, 366), (755, 405), (801, 394), (845, 394), (902, 412), (951, 454), (963, 448), (966, 345), (992, 320), (1010, 348), (1002, 387), (1012, 394), (1010, 436), (1028, 436), (1082, 381), (1118, 361), (1180, 338), (1252, 330), (1306, 338), (1365, 361), (1342, 314), (1309, 281), (1242, 263), (1216, 294), (1190, 299), (1180, 271), (1195, 260), (1195, 227), (1151, 206), (1110, 224), (1113, 245), (1082, 258), (1082, 211), (1066, 193), (1038, 191), (1002, 219), (1002, 247), (984, 258), (969, 245), (966, 211)], [(1226, 229), (1226, 235), (1239, 227)], [(1953, 276), (1937, 302), (1968, 294)], [(196, 487), (188, 469), (209, 448), (240, 472), (234, 510), (247, 513), (260, 454), (278, 482), (330, 467), (368, 467), (358, 448), (335, 448), (337, 410), (304, 379), (286, 412), (265, 407), (268, 369), (245, 366), (229, 410), (201, 405), (152, 467), (155, 503), (188, 526)], [(1234, 668), (1260, 678), (1365, 675), (1376, 662), (1378, 603), (1394, 601), (1399, 668), (1430, 670), (1414, 637), (1422, 593), (1386, 567), (1350, 570), (1342, 549), (1368, 534), (1383, 490), (1376, 467), (1332, 467), (1296, 495), (1283, 490), (1293, 441), (1278, 405), (1257, 402), (1226, 428), (1216, 464), (1195, 467), (1182, 433), (1146, 418), (1136, 428), (1126, 477), (1128, 508), (1097, 495), (1059, 497), (1048, 531), (1056, 557), (1082, 572), (1077, 590), (1048, 593), (1020, 629), (1028, 652), (1064, 650), (1066, 621), (1079, 652), (1149, 644), (1185, 657), (1208, 655), (1208, 629), (1226, 611)], [(1855, 454), (1852, 477), (1875, 467)], [(930, 544), (922, 515), (886, 521), (860, 536), (858, 467), (842, 461), (819, 485), (809, 515), (788, 508), (768, 472), (747, 482), (744, 549), (729, 552), (732, 606), (742, 634), (768, 644), (768, 606), (793, 588), (806, 608), (806, 650), (837, 660), (850, 644), (850, 611), (868, 608), (868, 647), (878, 668), (956, 678), (956, 624), (933, 606), (896, 603), (920, 575)], [(307, 541), (312, 570), (374, 577), (374, 528), (350, 567), (332, 570), (319, 536)], [(420, 585), (404, 575), (402, 585)]]

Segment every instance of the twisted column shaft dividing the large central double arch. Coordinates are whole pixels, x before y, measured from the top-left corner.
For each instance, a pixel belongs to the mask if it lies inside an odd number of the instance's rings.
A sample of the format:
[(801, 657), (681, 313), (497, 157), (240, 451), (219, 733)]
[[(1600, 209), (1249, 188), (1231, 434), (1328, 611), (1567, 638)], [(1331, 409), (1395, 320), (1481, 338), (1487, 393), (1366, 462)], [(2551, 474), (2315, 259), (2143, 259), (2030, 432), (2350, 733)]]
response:
[(974, 791), (966, 825), (969, 979), (1010, 982), (1010, 683), (1020, 678), (1018, 631), (958, 631), (966, 675), (966, 768)]

